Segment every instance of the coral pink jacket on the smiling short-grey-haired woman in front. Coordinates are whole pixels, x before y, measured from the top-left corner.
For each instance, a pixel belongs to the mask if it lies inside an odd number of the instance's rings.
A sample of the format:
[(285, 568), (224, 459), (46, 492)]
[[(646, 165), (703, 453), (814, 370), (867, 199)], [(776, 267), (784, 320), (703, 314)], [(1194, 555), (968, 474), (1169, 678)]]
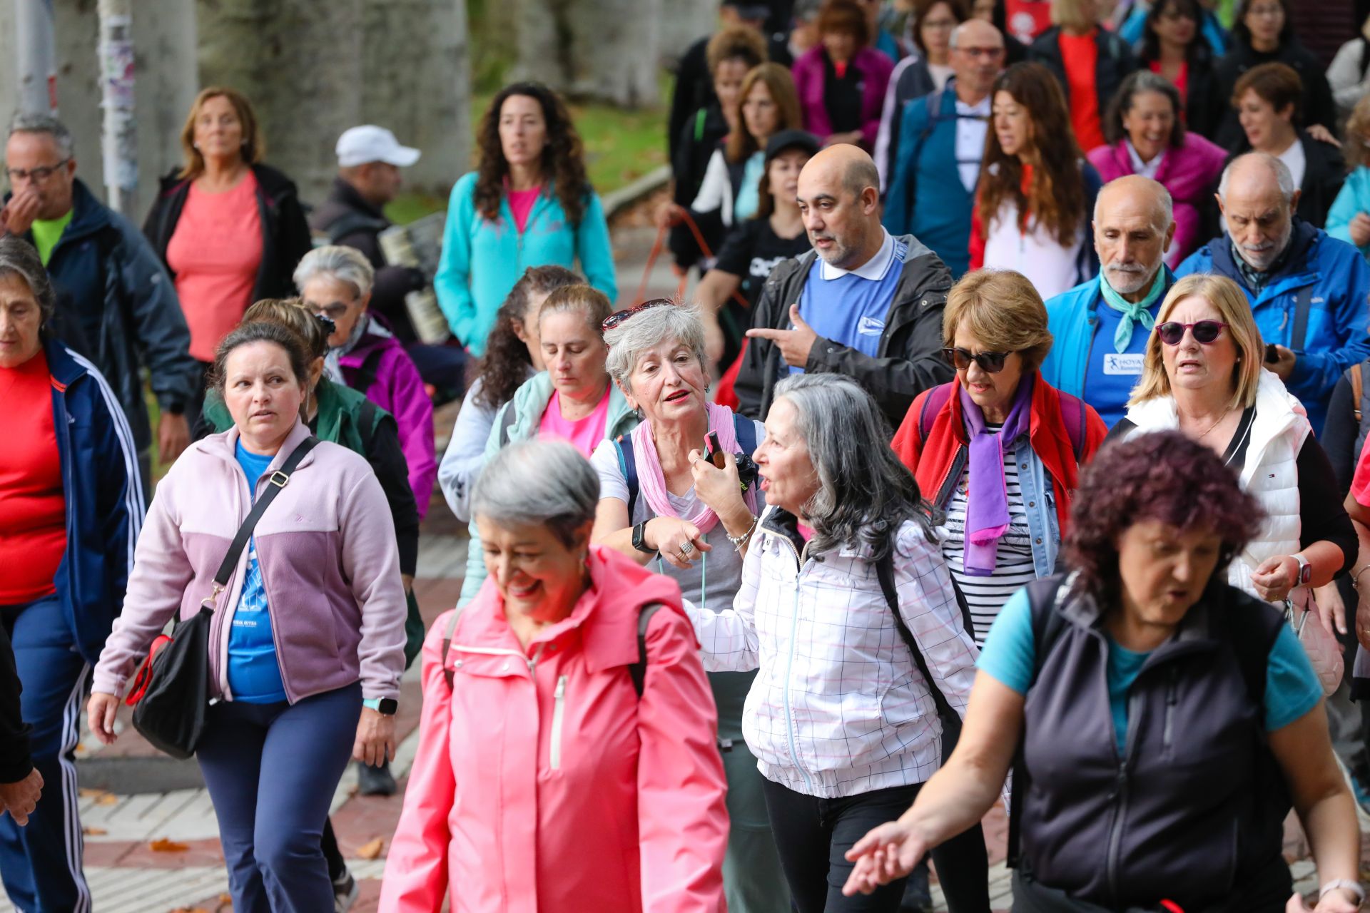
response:
[[(590, 587), (527, 645), (493, 579), (423, 645), (419, 749), (379, 909), (722, 913), (726, 784), (717, 715), (674, 580), (590, 549)], [(641, 606), (663, 608), (647, 630)]]

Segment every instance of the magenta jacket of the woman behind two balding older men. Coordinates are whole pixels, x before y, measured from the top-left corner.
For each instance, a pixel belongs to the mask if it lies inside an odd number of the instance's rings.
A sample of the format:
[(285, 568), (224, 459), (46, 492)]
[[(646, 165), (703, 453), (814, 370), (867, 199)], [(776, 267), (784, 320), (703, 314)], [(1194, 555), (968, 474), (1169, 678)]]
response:
[[(1200, 209), (1217, 205), (1212, 200), (1222, 175), (1222, 163), (1228, 152), (1193, 130), (1185, 130), (1185, 141), (1177, 149), (1166, 149), (1156, 181), (1175, 204), (1175, 238), (1166, 252), (1166, 266), (1174, 270), (1180, 261), (1199, 249), (1208, 238), (1200, 237), (1203, 216)], [(1097, 146), (1089, 152), (1089, 164), (1099, 170), (1104, 183), (1114, 178), (1133, 174), (1132, 156), (1128, 155), (1128, 141), (1119, 140), (1110, 146)]]

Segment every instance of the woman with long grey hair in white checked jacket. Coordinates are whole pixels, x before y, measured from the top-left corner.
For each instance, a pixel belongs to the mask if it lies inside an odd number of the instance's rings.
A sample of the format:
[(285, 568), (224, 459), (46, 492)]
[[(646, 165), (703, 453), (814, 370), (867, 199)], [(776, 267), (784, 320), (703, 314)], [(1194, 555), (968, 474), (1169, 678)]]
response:
[[(704, 668), (760, 669), (743, 735), (800, 913), (893, 913), (903, 879), (854, 903), (844, 853), (941, 765), (938, 701), (964, 715), (978, 652), (875, 401), (833, 374), (789, 376), (775, 397), (741, 589), (722, 612), (686, 612)], [(980, 827), (940, 850), (951, 909), (988, 913)]]

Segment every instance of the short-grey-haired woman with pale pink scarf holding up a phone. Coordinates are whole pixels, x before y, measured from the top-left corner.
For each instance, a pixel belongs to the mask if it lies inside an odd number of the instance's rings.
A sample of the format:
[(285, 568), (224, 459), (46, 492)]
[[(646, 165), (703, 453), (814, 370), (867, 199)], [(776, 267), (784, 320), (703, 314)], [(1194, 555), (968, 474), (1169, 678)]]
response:
[[(704, 324), (699, 309), (666, 300), (610, 316), (606, 368), (627, 404), (643, 416), (629, 434), (607, 439), (590, 464), (600, 501), (593, 541), (681, 584), (701, 612), (733, 604), (743, 556), (766, 496), (755, 478), (741, 485), (738, 456), (764, 427), (706, 400)], [(714, 460), (708, 435), (718, 438)], [(743, 742), (743, 702), (755, 671), (708, 676), (718, 705), (718, 735), (727, 771), (727, 909), (789, 910), (785, 876), (766, 819), (762, 776)]]

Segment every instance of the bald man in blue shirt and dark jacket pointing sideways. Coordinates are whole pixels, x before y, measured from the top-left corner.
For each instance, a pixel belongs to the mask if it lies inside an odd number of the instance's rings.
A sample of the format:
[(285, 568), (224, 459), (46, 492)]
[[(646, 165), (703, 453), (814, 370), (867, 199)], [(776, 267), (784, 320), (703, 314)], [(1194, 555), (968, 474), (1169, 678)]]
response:
[(796, 196), (814, 250), (766, 279), (737, 375), (741, 412), (764, 419), (777, 381), (826, 371), (860, 383), (899, 427), (915, 396), (951, 381), (941, 356), (951, 271), (918, 238), (880, 224), (880, 175), (858, 146), (810, 159)]

